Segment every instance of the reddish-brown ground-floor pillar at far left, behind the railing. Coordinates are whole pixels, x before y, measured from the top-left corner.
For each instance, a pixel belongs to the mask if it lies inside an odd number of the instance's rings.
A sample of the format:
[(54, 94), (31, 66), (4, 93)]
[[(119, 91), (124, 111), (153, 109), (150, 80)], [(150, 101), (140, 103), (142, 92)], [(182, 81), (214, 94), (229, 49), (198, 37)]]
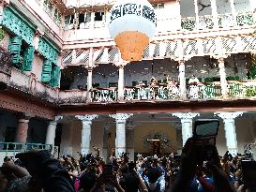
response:
[(15, 142), (26, 142), (29, 117), (22, 117), (18, 120)]

